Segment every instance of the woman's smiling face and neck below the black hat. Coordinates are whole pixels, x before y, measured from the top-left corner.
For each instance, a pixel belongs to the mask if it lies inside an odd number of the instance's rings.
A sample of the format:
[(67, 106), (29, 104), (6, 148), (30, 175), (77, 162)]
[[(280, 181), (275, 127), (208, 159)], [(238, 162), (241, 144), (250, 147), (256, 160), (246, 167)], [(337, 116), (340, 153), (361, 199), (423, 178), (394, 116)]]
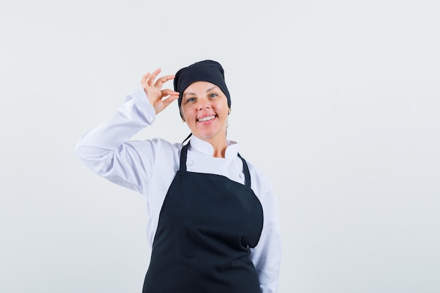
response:
[(183, 91), (181, 112), (194, 136), (216, 145), (226, 144), (228, 100), (218, 86), (194, 82)]

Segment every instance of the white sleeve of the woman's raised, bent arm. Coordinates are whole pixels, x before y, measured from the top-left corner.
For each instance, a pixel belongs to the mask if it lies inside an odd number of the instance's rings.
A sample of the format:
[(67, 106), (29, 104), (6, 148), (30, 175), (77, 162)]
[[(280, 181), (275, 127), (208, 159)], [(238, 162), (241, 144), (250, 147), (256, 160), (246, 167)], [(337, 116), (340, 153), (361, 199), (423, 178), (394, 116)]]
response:
[(129, 138), (154, 121), (155, 110), (145, 92), (135, 91), (127, 96), (112, 118), (78, 141), (77, 155), (96, 174), (143, 193), (154, 168), (160, 141), (129, 141)]

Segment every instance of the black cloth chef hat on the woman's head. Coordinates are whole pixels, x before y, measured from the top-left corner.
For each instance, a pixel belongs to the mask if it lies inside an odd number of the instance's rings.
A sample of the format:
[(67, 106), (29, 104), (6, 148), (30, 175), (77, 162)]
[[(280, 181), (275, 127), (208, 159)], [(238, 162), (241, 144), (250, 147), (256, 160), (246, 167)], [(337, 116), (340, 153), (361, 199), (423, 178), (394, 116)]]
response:
[(220, 63), (213, 60), (203, 60), (188, 67), (183, 67), (174, 77), (174, 91), (179, 91), (179, 112), (182, 103), (183, 91), (193, 82), (210, 82), (219, 86), (228, 98), (228, 106), (231, 108), (231, 96), (226, 87), (224, 70)]

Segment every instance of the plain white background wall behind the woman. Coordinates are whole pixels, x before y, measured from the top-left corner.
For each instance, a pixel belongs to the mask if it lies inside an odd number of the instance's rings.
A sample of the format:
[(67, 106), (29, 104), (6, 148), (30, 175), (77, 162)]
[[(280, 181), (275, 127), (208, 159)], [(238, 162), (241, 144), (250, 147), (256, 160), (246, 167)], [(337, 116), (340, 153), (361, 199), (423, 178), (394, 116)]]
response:
[[(141, 292), (143, 197), (75, 144), (144, 73), (204, 59), (226, 70), (228, 137), (278, 194), (280, 293), (440, 292), (439, 15), (436, 0), (2, 0), (0, 292)], [(188, 133), (174, 104), (137, 138)]]

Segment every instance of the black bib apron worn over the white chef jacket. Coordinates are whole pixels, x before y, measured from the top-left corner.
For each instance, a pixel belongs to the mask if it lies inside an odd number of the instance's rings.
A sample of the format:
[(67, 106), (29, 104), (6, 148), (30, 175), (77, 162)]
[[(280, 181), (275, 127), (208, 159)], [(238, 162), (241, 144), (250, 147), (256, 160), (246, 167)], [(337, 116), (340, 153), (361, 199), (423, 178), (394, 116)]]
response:
[(143, 293), (260, 293), (250, 247), (263, 209), (250, 188), (225, 176), (186, 171), (188, 145), (162, 204)]

